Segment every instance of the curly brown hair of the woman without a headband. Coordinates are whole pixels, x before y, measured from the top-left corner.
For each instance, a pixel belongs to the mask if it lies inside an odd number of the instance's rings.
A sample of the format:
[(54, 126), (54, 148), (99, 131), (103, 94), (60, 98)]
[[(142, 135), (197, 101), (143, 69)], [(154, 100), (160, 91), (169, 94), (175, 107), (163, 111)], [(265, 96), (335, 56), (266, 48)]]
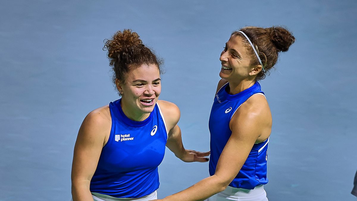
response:
[(125, 74), (142, 64), (154, 64), (160, 74), (162, 73), (162, 59), (155, 55), (154, 50), (142, 44), (140, 36), (131, 29), (117, 31), (111, 40), (105, 39), (104, 43), (103, 50), (108, 51), (107, 56), (113, 70), (114, 84), (116, 79), (124, 82)]

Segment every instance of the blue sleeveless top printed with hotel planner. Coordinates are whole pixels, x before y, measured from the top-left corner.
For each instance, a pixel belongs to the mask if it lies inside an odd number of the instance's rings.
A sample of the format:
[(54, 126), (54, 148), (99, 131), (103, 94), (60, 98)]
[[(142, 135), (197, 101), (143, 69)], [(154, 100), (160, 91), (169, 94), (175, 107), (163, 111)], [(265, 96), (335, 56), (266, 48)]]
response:
[(116, 198), (138, 198), (159, 188), (160, 165), (165, 154), (167, 131), (158, 104), (141, 122), (123, 113), (121, 99), (109, 104), (112, 126), (102, 148), (90, 191)]

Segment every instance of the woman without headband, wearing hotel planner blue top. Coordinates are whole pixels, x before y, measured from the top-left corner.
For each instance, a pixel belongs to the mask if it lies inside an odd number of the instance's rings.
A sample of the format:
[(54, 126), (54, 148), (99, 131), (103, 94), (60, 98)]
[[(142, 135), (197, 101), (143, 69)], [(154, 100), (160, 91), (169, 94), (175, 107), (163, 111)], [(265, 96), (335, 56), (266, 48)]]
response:
[(118, 31), (104, 50), (121, 99), (90, 112), (79, 129), (72, 199), (154, 200), (165, 146), (185, 162), (207, 162), (209, 152), (183, 148), (178, 107), (158, 100), (162, 62), (137, 33)]

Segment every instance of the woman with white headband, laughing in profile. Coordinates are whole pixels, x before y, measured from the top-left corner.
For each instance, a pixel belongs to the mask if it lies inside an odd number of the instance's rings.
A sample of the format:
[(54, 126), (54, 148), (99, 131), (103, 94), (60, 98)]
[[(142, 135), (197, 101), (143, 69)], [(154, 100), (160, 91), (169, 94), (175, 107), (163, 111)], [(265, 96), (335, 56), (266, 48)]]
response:
[(267, 201), (267, 148), (272, 117), (258, 80), (294, 43), (285, 28), (248, 26), (234, 31), (221, 53), (209, 129), (210, 177), (163, 200)]

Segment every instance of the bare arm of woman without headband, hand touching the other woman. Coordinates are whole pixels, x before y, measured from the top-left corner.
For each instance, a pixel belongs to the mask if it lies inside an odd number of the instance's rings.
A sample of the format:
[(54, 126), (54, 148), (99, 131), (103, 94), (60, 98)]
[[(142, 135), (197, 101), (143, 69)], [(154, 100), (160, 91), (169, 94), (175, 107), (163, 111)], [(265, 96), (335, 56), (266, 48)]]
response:
[(185, 162), (207, 162), (210, 152), (198, 152), (185, 149), (182, 144), (181, 129), (177, 122), (180, 119), (180, 110), (170, 102), (160, 100), (160, 108), (164, 114), (167, 129), (169, 130), (166, 147), (172, 151), (177, 158)]

